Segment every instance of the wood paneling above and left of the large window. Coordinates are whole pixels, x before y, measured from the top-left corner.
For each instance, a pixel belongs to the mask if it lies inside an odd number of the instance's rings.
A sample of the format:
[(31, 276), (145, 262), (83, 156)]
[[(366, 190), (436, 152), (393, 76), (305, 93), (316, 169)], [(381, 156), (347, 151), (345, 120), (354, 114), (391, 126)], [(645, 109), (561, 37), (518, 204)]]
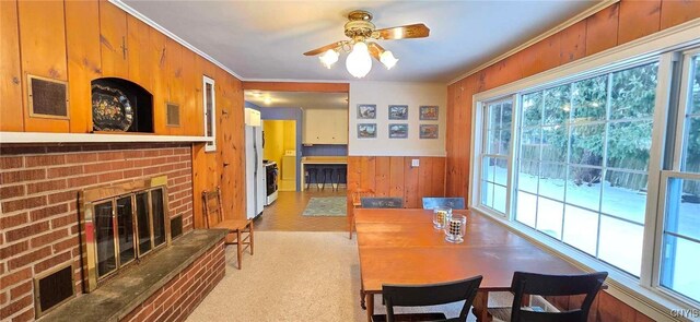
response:
[(468, 198), (471, 99), (576, 59), (700, 17), (700, 1), (622, 0), (447, 87), (446, 193)]

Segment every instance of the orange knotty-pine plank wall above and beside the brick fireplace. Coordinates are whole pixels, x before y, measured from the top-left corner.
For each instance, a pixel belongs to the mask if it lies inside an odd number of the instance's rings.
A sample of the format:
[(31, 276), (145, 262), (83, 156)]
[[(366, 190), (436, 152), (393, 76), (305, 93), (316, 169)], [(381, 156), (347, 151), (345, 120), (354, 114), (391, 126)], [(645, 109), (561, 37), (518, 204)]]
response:
[[(118, 76), (153, 94), (156, 135), (200, 136), (207, 75), (215, 82), (218, 150), (192, 146), (195, 227), (203, 227), (201, 191), (217, 186), (226, 216), (245, 217), (240, 80), (106, 0), (3, 0), (0, 17), (0, 131), (90, 133), (90, 82)], [(30, 117), (27, 74), (69, 82), (68, 120)], [(179, 127), (165, 124), (166, 103), (180, 106)]]

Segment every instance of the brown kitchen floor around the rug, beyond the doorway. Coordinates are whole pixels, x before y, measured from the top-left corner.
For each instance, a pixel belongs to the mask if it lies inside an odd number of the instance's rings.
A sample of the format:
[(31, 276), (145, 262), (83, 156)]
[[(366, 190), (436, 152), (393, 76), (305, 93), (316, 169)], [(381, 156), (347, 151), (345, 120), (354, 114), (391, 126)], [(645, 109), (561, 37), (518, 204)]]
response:
[(345, 196), (345, 189), (332, 191), (312, 188), (303, 192), (280, 191), (278, 199), (255, 219), (257, 230), (338, 231), (348, 229), (348, 217), (302, 216), (312, 196)]

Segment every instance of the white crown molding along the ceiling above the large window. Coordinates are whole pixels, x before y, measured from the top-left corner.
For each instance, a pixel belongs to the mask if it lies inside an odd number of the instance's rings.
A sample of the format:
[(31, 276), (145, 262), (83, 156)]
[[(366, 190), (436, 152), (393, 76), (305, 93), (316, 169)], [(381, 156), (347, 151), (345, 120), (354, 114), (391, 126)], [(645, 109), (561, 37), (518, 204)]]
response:
[(620, 2), (620, 0), (604, 0), (604, 1), (600, 1), (600, 2), (596, 3), (595, 5), (586, 9), (585, 11), (582, 11), (581, 13), (579, 13), (579, 14), (574, 15), (573, 17), (567, 20), (565, 22), (557, 25), (556, 27), (545, 32), (544, 34), (540, 34), (539, 36), (537, 36), (535, 38), (532, 38), (532, 39), (527, 40), (526, 43), (524, 43), (524, 44), (522, 44), (522, 45), (520, 45), (520, 46), (517, 46), (517, 47), (515, 47), (515, 48), (513, 48), (513, 49), (511, 49), (511, 50), (509, 50), (509, 51), (506, 51), (506, 52), (504, 52), (504, 53), (502, 53), (500, 56), (497, 56), (495, 58), (493, 58), (493, 59), (491, 59), (491, 60), (489, 60), (489, 61), (487, 61), (487, 62), (485, 62), (485, 63), (482, 63), (482, 64), (469, 70), (468, 72), (457, 76), (456, 79), (450, 81), (447, 83), (447, 85), (452, 85), (452, 84), (454, 84), (454, 83), (456, 83), (456, 82), (458, 82), (458, 81), (460, 81), (460, 80), (463, 80), (465, 77), (468, 77), (468, 76), (470, 76), (470, 75), (483, 70), (487, 67), (490, 67), (490, 65), (492, 65), (492, 64), (494, 64), (494, 63), (497, 63), (497, 62), (499, 62), (499, 61), (501, 61), (503, 59), (506, 59), (506, 58), (515, 55), (516, 52), (518, 52), (518, 51), (521, 51), (521, 50), (523, 50), (523, 49), (536, 44), (537, 41), (546, 39), (547, 37), (549, 37), (551, 35), (555, 35), (555, 34), (557, 34), (557, 33), (559, 33), (559, 32), (561, 32), (561, 31), (563, 31), (563, 29), (565, 29), (565, 28), (568, 28), (568, 27), (570, 27), (570, 26), (583, 21), (584, 19), (598, 13), (600, 10), (606, 9), (606, 8), (612, 5), (612, 4), (617, 3), (617, 2)]

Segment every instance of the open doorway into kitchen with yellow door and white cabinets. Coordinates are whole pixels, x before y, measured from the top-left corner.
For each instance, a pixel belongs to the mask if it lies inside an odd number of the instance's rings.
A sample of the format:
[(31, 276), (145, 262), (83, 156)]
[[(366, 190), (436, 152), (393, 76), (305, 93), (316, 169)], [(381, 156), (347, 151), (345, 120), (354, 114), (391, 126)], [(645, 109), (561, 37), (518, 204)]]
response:
[(259, 230), (346, 230), (348, 93), (246, 90), (260, 111), (264, 160), (277, 168), (277, 199)]

